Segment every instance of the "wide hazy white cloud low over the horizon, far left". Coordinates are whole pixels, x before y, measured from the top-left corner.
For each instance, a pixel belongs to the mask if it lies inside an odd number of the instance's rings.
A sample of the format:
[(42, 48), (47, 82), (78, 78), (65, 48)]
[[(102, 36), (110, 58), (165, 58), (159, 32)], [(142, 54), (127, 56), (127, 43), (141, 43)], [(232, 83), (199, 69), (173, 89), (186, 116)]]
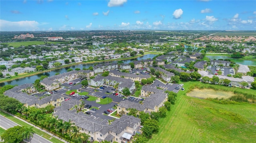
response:
[(10, 22), (7, 20), (0, 20), (0, 31), (36, 31), (39, 23), (36, 21), (18, 21)]

